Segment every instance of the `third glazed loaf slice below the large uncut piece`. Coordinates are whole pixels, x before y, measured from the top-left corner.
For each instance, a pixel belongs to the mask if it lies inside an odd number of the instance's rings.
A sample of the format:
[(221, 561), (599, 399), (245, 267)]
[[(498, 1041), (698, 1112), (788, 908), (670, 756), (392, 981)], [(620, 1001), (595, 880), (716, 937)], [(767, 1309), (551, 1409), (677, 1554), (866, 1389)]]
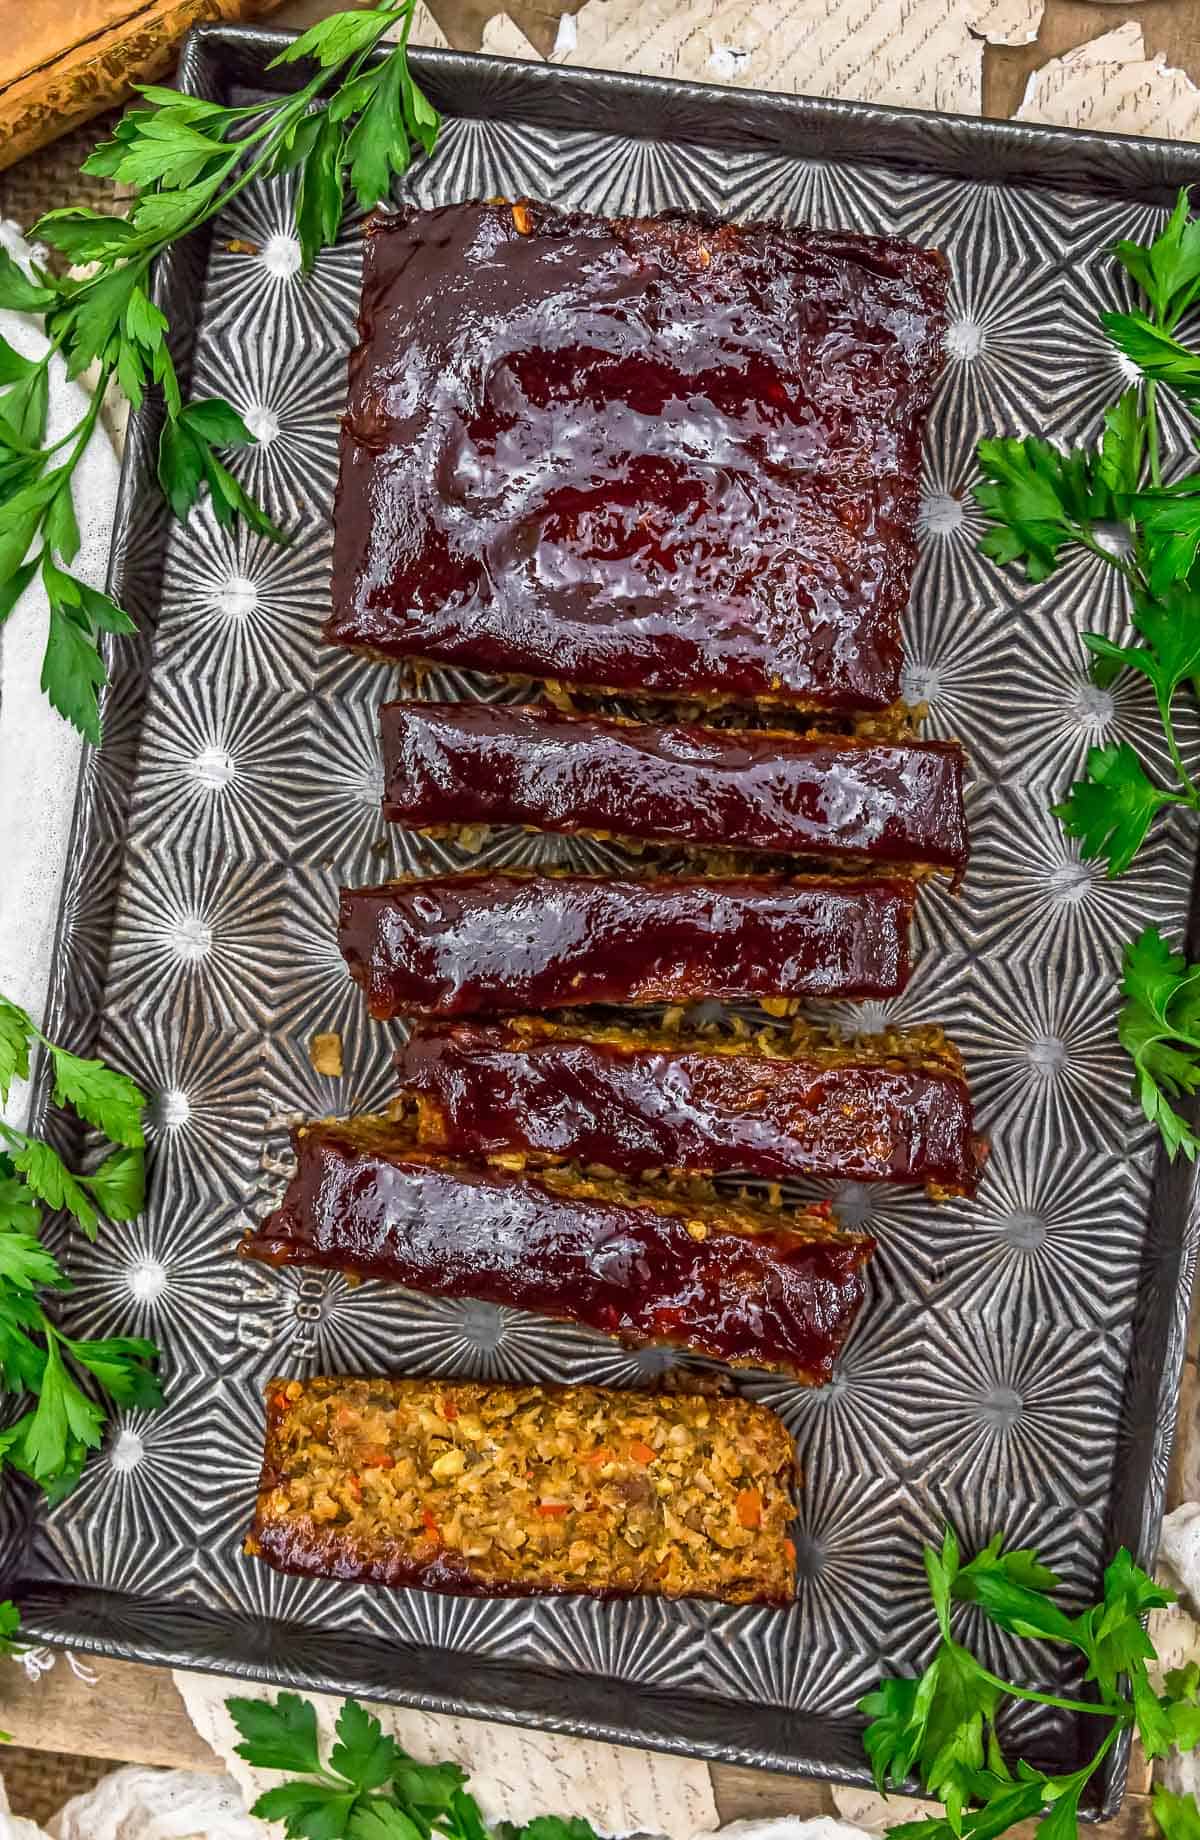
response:
[(462, 1157), (532, 1156), (620, 1174), (828, 1176), (974, 1194), (957, 1056), (762, 1052), (650, 1030), (425, 1023), (396, 1056), (420, 1139)]

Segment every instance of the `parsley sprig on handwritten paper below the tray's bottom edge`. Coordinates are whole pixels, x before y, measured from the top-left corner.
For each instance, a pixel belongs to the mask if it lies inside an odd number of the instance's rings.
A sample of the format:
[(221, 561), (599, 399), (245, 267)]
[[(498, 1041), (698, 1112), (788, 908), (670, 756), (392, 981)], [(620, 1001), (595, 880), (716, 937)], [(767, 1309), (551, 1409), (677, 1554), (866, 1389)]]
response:
[[(337, 1742), (320, 1757), (317, 1713), (296, 1693), (271, 1700), (226, 1700), (241, 1733), (237, 1755), (258, 1770), (283, 1770), (300, 1781), (258, 1798), (252, 1814), (283, 1822), (289, 1840), (490, 1840), (466, 1770), (456, 1763), (418, 1763), (357, 1700), (337, 1717)], [(525, 1827), (501, 1822), (497, 1840), (596, 1840), (583, 1820), (539, 1816)]]

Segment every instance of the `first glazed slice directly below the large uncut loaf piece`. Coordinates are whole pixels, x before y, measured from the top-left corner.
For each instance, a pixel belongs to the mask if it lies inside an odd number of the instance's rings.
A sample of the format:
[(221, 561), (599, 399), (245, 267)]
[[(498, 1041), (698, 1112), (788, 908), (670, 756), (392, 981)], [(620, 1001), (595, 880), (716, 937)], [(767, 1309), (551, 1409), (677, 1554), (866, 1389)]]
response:
[(860, 742), (565, 716), (545, 703), (388, 703), (383, 815), (414, 830), (574, 835), (966, 867), (957, 742)]

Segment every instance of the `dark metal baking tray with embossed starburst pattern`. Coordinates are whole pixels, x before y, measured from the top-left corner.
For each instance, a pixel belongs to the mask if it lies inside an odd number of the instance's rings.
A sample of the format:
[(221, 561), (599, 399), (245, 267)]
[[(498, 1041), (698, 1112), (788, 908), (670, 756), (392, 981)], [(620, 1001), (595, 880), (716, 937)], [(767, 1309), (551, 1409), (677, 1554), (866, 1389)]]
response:
[[(204, 29), (182, 83), (221, 99), (285, 85), (265, 74), (280, 42)], [(1126, 622), (1104, 567), (1080, 556), (1038, 589), (998, 574), (977, 556), (970, 484), (985, 432), (1097, 432), (1123, 381), (1097, 329), (1123, 289), (1104, 252), (1200, 180), (1200, 147), (455, 53), (414, 63), (447, 116), (410, 175), (421, 202), (701, 206), (944, 248), (952, 326), (907, 690), (929, 703), (929, 732), (970, 751), (974, 859), (959, 898), (922, 898), (907, 994), (837, 1014), (948, 1025), (992, 1139), (987, 1179), (946, 1207), (834, 1189), (880, 1240), (837, 1376), (815, 1393), (740, 1380), (782, 1413), (806, 1472), (790, 1612), (383, 1593), (241, 1555), (276, 1369), (622, 1386), (670, 1363), (506, 1310), (232, 1260), (285, 1174), (285, 1121), (390, 1093), (392, 1036), (366, 1021), (333, 942), (339, 883), (458, 861), (379, 819), (375, 708), (394, 675), (318, 644), (357, 234), (302, 278), (287, 186), (260, 184), (164, 261), (158, 296), (191, 388), (230, 397), (258, 432), (236, 464), (294, 541), (228, 535), (206, 512), (167, 523), (155, 410), (134, 416), (112, 585), (140, 637), (114, 648), (105, 749), (83, 767), (50, 1005), (55, 1034), (155, 1095), (147, 1211), (96, 1246), (70, 1240), (64, 1314), (90, 1334), (155, 1336), (167, 1404), (120, 1419), (55, 1512), (7, 1487), (0, 1557), (29, 1632), (77, 1650), (861, 1781), (854, 1704), (922, 1660), (920, 1547), (946, 1520), (966, 1544), (994, 1529), (1034, 1544), (1082, 1601), (1119, 1542), (1152, 1555), (1161, 1516), (1200, 1216), (1130, 1100), (1115, 972), (1147, 922), (1187, 933), (1196, 839), (1169, 824), (1104, 881), (1047, 815), (1102, 736), (1160, 758), (1154, 705), (1126, 677), (1088, 683), (1077, 629)], [(1169, 420), (1180, 449), (1193, 432)], [(495, 690), (445, 672), (425, 694)], [(486, 859), (620, 856), (513, 834)], [(318, 1029), (344, 1036), (340, 1080), (309, 1064)], [(1014, 1662), (1007, 1638), (985, 1639)], [(1071, 1680), (1051, 1649), (1036, 1669)], [(1082, 1741), (1069, 1715), (1033, 1706), (1010, 1733), (1062, 1768)], [(1123, 1772), (1115, 1757), (1108, 1809)]]

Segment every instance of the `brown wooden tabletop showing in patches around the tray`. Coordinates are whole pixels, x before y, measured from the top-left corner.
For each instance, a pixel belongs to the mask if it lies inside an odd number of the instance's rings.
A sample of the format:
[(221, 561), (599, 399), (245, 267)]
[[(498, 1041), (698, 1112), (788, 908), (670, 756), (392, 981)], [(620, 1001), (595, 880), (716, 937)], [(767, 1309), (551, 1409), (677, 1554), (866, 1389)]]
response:
[[(574, 11), (576, 4), (578, 0), (567, 0), (563, 7), (556, 0), (512, 0), (506, 11), (541, 52), (548, 52), (560, 11)], [(479, 46), (484, 22), (501, 9), (493, 0), (431, 0), (431, 6), (451, 42), (462, 50)], [(333, 9), (335, 0), (285, 0), (276, 20), (282, 26), (304, 26)], [(1165, 53), (1169, 63), (1180, 64), (1200, 83), (1200, 0), (1145, 0), (1143, 6), (1047, 0), (1036, 44), (987, 48), (985, 112), (1012, 114), (1033, 70), (1126, 18), (1141, 24), (1148, 55)], [(1200, 1496), (1198, 1325), (1200, 1314), (1193, 1321), (1182, 1395), (1182, 1435), (1172, 1465), (1174, 1500)], [(96, 1662), (94, 1673), (96, 1685), (88, 1685), (59, 1656), (50, 1673), (28, 1680), (17, 1665), (0, 1663), (0, 1726), (17, 1744), (31, 1750), (171, 1768), (219, 1768), (219, 1759), (193, 1730), (166, 1669)], [(823, 1783), (727, 1766), (714, 1766), (712, 1781), (721, 1820), (727, 1822), (834, 1812), (832, 1792)], [(1136, 1755), (1130, 1794), (1119, 1820), (1106, 1831), (1113, 1840), (1141, 1840), (1150, 1829), (1148, 1770)]]

